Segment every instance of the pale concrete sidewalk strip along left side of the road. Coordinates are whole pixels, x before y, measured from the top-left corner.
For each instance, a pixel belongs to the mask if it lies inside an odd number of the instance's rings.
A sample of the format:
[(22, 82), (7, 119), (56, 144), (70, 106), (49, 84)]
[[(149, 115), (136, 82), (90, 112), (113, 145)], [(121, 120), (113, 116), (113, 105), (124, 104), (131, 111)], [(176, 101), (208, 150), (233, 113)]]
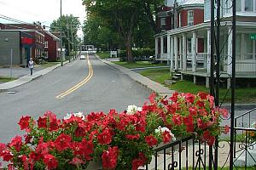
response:
[[(67, 63), (68, 63), (68, 61), (63, 62), (63, 65), (66, 65)], [(41, 71), (35, 72), (32, 76), (30, 76), (30, 74), (28, 74), (24, 77), (20, 77), (17, 80), (0, 84), (0, 93), (6, 92), (11, 88), (16, 88), (20, 85), (27, 83), (27, 82), (31, 82), (32, 80), (36, 80), (37, 78), (44, 76), (45, 74), (49, 73), (50, 71), (55, 70), (56, 68), (58, 68), (60, 66), (61, 66), (61, 64), (53, 65), (53, 66), (47, 67)]]

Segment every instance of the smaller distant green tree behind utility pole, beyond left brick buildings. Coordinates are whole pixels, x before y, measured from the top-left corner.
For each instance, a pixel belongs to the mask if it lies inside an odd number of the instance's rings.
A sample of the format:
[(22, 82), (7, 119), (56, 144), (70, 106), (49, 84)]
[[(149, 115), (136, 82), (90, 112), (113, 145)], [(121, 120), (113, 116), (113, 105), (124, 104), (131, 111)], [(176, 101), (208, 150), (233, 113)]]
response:
[[(79, 19), (74, 17), (73, 14), (66, 16), (62, 15), (57, 20), (53, 20), (50, 24), (49, 31), (62, 31), (62, 44), (65, 44), (65, 48), (68, 49), (68, 39), (71, 40), (72, 36), (74, 43), (77, 44), (78, 42), (77, 32), (79, 30), (79, 25)], [(67, 54), (69, 55), (69, 51), (67, 51)]]

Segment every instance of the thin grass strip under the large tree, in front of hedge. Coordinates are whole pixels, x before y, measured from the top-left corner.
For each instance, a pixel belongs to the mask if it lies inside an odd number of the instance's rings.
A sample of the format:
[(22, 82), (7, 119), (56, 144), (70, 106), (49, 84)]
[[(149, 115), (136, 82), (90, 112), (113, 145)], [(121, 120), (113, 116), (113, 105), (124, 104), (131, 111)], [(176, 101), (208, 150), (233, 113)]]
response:
[(136, 61), (134, 63), (129, 63), (125, 61), (113, 61), (116, 65), (122, 65), (128, 69), (135, 69), (135, 68), (144, 68), (144, 67), (151, 67), (151, 66), (166, 66), (165, 64), (151, 64), (149, 61)]

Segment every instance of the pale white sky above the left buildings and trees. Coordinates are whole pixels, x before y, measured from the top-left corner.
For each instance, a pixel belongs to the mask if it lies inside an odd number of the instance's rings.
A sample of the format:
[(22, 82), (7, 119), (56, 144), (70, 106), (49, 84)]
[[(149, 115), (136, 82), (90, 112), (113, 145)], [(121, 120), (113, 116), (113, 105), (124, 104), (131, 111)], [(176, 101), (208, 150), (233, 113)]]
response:
[[(60, 17), (61, 7), (62, 14), (73, 14), (79, 17), (80, 23), (83, 24), (85, 10), (82, 0), (0, 0), (0, 17), (4, 15), (28, 23), (39, 21), (42, 25), (49, 26), (53, 20)], [(1, 18), (0, 22), (12, 23)], [(82, 37), (81, 30), (78, 34)]]

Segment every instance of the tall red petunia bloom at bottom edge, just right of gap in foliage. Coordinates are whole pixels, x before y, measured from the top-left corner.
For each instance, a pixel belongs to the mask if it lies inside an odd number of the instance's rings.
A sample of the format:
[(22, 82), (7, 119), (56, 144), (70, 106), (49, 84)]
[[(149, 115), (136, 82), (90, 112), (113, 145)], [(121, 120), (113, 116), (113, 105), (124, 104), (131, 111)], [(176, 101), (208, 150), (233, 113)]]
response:
[(114, 169), (117, 166), (117, 158), (119, 154), (118, 147), (108, 148), (102, 154), (102, 167), (106, 169)]

